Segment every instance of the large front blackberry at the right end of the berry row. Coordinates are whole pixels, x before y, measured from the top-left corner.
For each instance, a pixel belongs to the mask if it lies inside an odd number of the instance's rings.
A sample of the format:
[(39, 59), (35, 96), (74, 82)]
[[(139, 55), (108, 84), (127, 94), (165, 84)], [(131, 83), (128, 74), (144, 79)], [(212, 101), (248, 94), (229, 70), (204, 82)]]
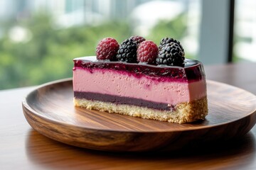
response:
[(170, 42), (161, 47), (156, 58), (156, 64), (166, 64), (170, 66), (184, 66), (184, 52), (176, 42)]

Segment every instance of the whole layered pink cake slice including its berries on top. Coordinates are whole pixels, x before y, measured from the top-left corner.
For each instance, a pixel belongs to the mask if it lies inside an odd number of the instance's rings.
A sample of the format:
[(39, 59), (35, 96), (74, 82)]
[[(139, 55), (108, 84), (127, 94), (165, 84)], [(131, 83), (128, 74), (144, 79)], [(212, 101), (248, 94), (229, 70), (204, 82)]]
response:
[(186, 59), (178, 40), (163, 38), (157, 47), (132, 36), (118, 47), (114, 38), (105, 38), (96, 53), (97, 60), (74, 59), (75, 106), (169, 123), (208, 114), (203, 64)]

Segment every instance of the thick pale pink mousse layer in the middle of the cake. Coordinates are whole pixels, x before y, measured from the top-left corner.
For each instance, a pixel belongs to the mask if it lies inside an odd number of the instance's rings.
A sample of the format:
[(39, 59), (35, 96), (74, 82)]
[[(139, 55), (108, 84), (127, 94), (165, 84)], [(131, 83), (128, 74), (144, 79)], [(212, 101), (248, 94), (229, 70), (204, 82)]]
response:
[(94, 69), (92, 72), (75, 67), (73, 89), (176, 105), (206, 96), (206, 81), (157, 81), (146, 75), (138, 78), (116, 70)]

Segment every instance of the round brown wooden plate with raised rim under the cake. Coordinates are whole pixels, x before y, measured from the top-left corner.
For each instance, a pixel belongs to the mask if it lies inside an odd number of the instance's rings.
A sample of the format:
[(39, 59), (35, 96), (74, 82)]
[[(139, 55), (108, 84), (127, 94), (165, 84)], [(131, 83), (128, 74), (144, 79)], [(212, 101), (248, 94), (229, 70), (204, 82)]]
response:
[(72, 83), (64, 79), (44, 84), (22, 103), (33, 129), (68, 145), (114, 152), (170, 151), (240, 137), (256, 122), (256, 96), (215, 81), (207, 81), (206, 120), (182, 125), (76, 108)]

